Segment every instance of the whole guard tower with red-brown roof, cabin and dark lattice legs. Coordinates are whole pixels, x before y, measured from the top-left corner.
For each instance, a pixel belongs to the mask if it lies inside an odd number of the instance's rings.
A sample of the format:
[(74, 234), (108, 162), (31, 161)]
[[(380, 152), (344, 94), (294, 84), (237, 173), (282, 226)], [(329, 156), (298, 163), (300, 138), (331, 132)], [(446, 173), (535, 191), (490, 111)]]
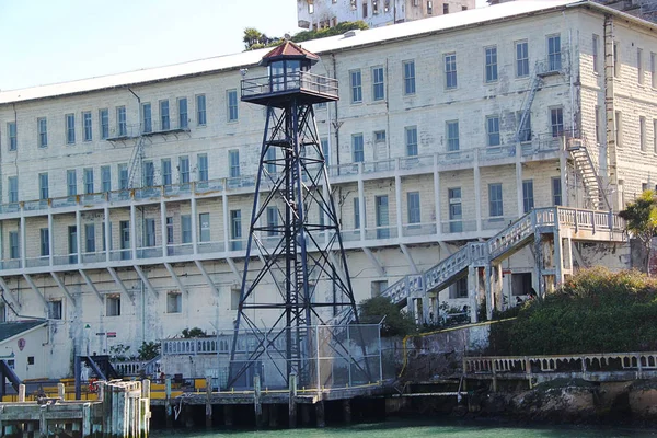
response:
[(250, 387), (254, 374), (268, 388), (291, 374), (312, 385), (320, 355), (310, 351), (321, 344), (312, 327), (357, 318), (313, 112), (337, 101), (337, 81), (310, 72), (319, 59), (286, 41), (262, 59), (268, 76), (242, 81), (242, 101), (265, 106), (266, 123), (229, 387)]

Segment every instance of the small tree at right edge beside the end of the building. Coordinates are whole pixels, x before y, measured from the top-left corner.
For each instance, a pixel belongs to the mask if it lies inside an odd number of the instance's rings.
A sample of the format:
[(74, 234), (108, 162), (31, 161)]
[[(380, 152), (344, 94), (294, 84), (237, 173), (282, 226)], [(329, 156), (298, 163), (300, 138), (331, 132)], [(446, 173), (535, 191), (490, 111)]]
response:
[(636, 200), (627, 204), (619, 216), (625, 220), (627, 232), (644, 245), (646, 254), (644, 269), (647, 273), (650, 241), (657, 234), (657, 194), (654, 191), (645, 191)]

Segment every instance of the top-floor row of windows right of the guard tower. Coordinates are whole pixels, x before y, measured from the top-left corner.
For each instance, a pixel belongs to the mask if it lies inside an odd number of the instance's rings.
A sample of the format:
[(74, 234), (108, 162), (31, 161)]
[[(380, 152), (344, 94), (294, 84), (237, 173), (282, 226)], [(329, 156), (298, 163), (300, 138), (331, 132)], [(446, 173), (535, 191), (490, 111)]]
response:
[[(529, 76), (529, 44), (527, 41), (519, 41), (515, 44), (515, 66), (516, 78), (526, 78)], [(449, 53), (442, 56), (445, 89), (456, 89), (458, 87), (457, 54)], [(548, 36), (548, 71), (558, 71), (562, 68), (562, 47), (561, 36)], [(416, 92), (415, 84), (415, 60), (405, 60), (402, 62), (404, 95), (412, 95)], [(498, 80), (498, 54), (497, 46), (484, 48), (484, 81), (496, 82)], [(385, 99), (385, 74), (383, 67), (371, 68), (372, 101), (383, 101)], [(362, 102), (362, 72), (360, 69), (349, 71), (349, 90), (351, 103)]]

